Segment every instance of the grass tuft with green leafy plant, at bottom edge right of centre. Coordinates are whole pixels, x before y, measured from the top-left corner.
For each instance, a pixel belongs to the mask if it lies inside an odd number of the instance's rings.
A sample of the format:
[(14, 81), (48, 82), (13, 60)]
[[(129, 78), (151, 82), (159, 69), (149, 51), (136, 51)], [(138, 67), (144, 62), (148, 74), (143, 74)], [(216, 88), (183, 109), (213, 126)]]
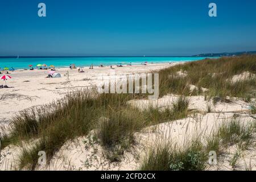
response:
[(202, 144), (195, 140), (183, 149), (160, 143), (152, 148), (142, 161), (142, 171), (201, 171), (207, 155)]

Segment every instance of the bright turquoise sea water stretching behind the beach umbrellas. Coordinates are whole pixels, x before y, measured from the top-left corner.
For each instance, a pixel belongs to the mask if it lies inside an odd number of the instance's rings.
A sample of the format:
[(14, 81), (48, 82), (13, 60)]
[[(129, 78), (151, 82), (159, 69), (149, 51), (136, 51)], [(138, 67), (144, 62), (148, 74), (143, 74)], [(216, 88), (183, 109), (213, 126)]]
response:
[[(91, 64), (94, 66), (116, 65), (121, 64), (141, 64), (148, 63), (168, 63), (171, 61), (196, 61), (203, 60), (206, 57), (20, 57), (17, 58), (0, 58), (0, 68), (5, 67), (14, 69), (28, 69), (28, 65), (36, 68), (38, 64), (55, 65), (56, 68), (69, 67), (75, 64), (77, 67), (87, 67)], [(214, 57), (216, 58), (216, 57)]]

